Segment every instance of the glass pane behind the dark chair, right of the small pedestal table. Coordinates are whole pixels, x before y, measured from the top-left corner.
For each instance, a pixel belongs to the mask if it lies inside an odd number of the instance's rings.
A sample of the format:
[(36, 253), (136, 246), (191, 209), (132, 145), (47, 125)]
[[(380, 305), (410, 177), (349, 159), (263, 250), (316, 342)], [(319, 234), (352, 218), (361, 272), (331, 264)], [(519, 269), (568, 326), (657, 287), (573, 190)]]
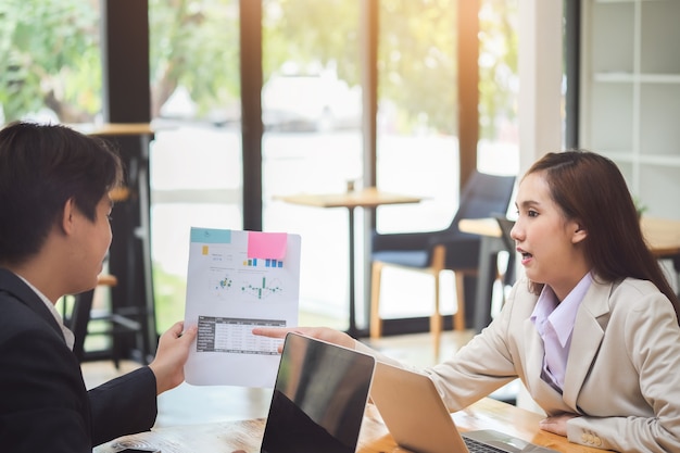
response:
[[(458, 201), (457, 1), (380, 2), (376, 179), (380, 189), (421, 197), (380, 206), (378, 234), (446, 228)], [(441, 276), (442, 313), (452, 313), (453, 275)], [(381, 316), (432, 313), (431, 276), (393, 267), (381, 277)]]

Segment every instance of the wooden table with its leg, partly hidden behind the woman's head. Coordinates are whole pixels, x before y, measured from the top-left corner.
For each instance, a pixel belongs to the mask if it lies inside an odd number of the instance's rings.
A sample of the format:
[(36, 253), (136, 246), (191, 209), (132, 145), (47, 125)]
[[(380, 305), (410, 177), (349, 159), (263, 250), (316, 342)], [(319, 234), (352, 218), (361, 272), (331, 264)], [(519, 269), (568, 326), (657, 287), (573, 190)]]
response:
[[(642, 217), (640, 226), (652, 253), (659, 260), (672, 260), (676, 273), (680, 275), (680, 221)], [(463, 218), (458, 228), (482, 236), (475, 311), (475, 329), (480, 331), (491, 320), (491, 293), (495, 279), (493, 257), (506, 247), (495, 218)], [(513, 250), (509, 252), (514, 253)]]

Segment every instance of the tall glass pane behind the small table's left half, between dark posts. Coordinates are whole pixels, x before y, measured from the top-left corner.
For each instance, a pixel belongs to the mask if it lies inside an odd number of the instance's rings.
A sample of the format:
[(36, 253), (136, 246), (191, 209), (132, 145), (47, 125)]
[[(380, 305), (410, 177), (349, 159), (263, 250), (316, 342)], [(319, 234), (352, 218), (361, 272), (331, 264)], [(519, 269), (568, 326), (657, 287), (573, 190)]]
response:
[(301, 324), (341, 329), (348, 327), (348, 211), (277, 197), (361, 184), (360, 7), (263, 1), (263, 229), (302, 236)]

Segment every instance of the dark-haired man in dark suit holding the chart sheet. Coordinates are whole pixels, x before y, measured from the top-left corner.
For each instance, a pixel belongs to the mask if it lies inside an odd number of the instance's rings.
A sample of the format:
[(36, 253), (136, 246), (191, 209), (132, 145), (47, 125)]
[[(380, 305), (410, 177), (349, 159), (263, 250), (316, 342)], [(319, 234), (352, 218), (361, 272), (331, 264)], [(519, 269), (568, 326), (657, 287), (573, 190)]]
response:
[(149, 366), (86, 390), (54, 303), (93, 288), (111, 243), (117, 153), (64, 126), (0, 130), (0, 450), (88, 452), (150, 429), (184, 381), (196, 329), (175, 324)]

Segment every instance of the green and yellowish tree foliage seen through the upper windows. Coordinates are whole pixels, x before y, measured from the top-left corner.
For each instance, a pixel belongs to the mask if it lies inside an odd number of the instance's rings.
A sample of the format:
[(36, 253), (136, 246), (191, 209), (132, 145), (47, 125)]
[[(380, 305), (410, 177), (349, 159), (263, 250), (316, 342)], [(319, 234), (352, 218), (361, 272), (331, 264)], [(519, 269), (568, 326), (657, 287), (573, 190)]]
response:
[[(458, 0), (463, 1), (463, 0)], [(360, 85), (360, 7), (344, 0), (263, 0), (265, 80), (288, 61), (332, 65)], [(179, 87), (190, 87), (198, 115), (239, 102), (236, 0), (149, 0), (152, 117)], [(455, 0), (380, 2), (380, 98), (401, 109), (403, 131), (425, 121), (456, 134)], [(495, 118), (514, 115), (515, 2), (482, 0), (480, 116), (482, 137)], [(101, 111), (98, 0), (5, 0), (0, 3), (0, 105), (5, 122), (47, 106), (64, 123)], [(512, 77), (511, 77), (512, 79)], [(405, 86), (408, 88), (405, 89)]]

